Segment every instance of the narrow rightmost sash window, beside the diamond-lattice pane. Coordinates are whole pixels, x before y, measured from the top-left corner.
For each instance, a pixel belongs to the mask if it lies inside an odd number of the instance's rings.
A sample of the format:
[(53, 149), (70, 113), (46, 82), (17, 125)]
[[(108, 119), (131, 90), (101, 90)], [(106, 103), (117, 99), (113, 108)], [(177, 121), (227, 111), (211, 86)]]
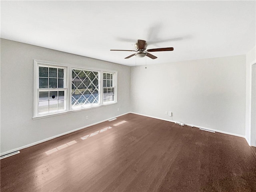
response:
[(115, 101), (114, 73), (103, 73), (103, 103)]

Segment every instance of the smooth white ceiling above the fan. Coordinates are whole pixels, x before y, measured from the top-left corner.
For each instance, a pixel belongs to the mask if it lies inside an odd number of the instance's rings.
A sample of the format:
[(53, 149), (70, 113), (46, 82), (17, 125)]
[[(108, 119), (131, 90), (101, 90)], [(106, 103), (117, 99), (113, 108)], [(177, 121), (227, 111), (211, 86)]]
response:
[[(246, 54), (256, 42), (256, 1), (1, 1), (1, 38), (128, 66), (138, 39), (147, 64)], [(136, 58), (137, 65), (145, 64)]]

